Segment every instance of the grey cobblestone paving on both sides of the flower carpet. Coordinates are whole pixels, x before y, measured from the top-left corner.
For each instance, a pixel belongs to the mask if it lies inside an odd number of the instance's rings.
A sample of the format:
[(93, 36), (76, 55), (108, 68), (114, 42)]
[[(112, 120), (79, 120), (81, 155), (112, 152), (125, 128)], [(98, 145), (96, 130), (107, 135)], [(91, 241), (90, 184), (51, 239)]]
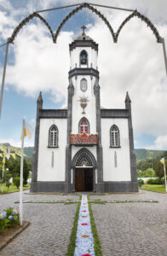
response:
[[(24, 195), (24, 200), (78, 200), (77, 195)], [(142, 200), (158, 203), (91, 204), (103, 256), (167, 256), (167, 194), (90, 195), (90, 199)], [(0, 195), (0, 211), (19, 210), (19, 193)], [(31, 225), (0, 251), (0, 256), (63, 256), (70, 240), (77, 204), (24, 204)]]

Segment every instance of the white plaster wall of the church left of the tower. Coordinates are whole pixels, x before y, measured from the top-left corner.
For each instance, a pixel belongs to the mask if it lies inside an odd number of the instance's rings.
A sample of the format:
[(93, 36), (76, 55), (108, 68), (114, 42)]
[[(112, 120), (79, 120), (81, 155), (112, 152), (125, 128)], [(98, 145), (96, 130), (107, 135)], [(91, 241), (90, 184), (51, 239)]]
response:
[[(49, 128), (59, 130), (58, 148), (48, 148)], [(37, 181), (65, 181), (67, 119), (40, 119)], [(54, 152), (54, 167), (51, 166)]]

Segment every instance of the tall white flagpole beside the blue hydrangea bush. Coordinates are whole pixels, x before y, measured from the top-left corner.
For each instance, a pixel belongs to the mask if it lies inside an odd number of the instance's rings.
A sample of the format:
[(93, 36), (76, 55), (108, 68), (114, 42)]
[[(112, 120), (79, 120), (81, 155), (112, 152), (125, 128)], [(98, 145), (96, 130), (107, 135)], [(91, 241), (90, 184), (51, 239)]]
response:
[(20, 159), (20, 225), (23, 223), (23, 160), (24, 160), (24, 126), (25, 119), (22, 122), (22, 135), (21, 135), (21, 159)]

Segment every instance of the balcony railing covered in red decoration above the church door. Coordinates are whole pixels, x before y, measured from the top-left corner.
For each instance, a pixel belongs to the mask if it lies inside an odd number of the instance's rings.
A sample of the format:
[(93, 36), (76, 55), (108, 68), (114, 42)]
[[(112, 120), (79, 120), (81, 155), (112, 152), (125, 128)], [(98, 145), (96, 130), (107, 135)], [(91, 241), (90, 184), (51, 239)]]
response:
[(98, 143), (98, 135), (88, 133), (71, 134), (70, 143), (73, 145), (95, 145)]

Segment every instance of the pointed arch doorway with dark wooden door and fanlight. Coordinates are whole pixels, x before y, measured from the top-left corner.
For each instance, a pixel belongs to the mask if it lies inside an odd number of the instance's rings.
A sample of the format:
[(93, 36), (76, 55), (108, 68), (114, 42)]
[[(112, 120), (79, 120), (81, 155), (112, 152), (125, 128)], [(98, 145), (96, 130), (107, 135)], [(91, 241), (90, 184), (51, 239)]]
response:
[(95, 191), (95, 167), (94, 155), (83, 148), (73, 158), (73, 189), (77, 192)]

